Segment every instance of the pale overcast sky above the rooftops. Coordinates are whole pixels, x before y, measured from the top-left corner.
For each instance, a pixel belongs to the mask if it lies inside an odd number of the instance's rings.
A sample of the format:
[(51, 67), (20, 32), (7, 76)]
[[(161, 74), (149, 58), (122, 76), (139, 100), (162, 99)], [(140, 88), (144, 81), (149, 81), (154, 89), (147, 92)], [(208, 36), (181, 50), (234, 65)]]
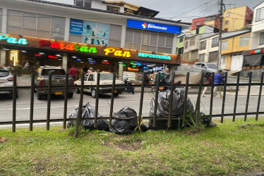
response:
[[(73, 0), (46, 0), (64, 4), (73, 4)], [(191, 22), (192, 18), (199, 18), (206, 15), (216, 14), (219, 10), (218, 0), (124, 0), (131, 4), (160, 11), (157, 18), (171, 20), (181, 20)], [(226, 8), (248, 6), (253, 11), (253, 7), (263, 2), (263, 0), (224, 0)]]

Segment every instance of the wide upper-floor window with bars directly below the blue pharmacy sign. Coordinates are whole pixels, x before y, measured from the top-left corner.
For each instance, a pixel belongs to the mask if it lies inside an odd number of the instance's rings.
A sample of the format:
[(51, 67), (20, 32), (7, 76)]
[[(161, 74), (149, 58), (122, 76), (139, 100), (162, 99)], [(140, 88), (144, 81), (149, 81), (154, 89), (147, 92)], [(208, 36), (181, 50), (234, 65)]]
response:
[(160, 53), (172, 53), (174, 35), (126, 29), (126, 48)]

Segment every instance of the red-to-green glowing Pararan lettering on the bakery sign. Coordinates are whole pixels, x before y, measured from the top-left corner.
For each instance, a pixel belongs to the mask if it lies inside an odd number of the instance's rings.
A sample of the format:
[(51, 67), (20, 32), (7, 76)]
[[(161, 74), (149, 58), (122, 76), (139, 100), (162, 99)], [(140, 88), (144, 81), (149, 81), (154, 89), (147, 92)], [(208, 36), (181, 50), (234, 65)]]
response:
[(80, 51), (84, 53), (96, 54), (95, 47), (78, 46), (78, 44), (64, 44), (64, 42), (49, 42), (48, 40), (40, 40), (40, 46), (50, 46), (52, 49), (61, 49), (67, 51)]

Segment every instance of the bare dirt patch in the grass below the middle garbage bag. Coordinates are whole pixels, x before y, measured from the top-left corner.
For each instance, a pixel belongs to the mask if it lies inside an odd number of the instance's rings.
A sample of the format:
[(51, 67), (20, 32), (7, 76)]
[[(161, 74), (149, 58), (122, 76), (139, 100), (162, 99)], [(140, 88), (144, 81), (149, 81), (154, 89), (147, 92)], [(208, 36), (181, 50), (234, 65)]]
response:
[(117, 149), (119, 151), (138, 151), (141, 149), (141, 141), (133, 142), (104, 142), (105, 146), (108, 146), (112, 149)]

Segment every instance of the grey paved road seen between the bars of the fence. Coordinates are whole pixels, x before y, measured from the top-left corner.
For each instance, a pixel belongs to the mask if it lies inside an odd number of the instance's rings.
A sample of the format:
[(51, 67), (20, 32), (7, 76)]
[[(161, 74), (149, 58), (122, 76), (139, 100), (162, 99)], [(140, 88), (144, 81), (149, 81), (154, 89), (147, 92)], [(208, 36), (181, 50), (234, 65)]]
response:
[[(229, 79), (229, 82), (235, 82), (235, 79)], [(246, 80), (244, 82), (247, 82)], [(20, 80), (21, 85), (25, 85), (25, 80)], [(256, 106), (258, 103), (258, 87), (253, 87), (251, 91), (251, 98), (249, 101), (248, 112), (256, 111)], [(138, 89), (139, 90), (139, 89)], [(149, 89), (147, 89), (149, 91)], [(197, 90), (191, 89), (190, 95), (188, 96), (191, 101), (195, 104), (197, 99)], [(244, 113), (246, 107), (246, 87), (241, 87), (239, 91), (239, 99), (237, 104), (237, 113)], [(201, 111), (208, 114), (210, 107), (209, 94), (206, 97), (201, 97)], [(74, 93), (73, 99), (68, 99), (68, 115), (78, 107), (79, 94)], [(144, 101), (143, 101), (143, 116), (148, 116), (150, 109), (150, 101), (153, 97), (153, 94), (150, 92), (145, 92)], [(104, 94), (100, 96), (99, 101), (99, 113), (102, 116), (109, 116), (111, 96), (110, 94)], [(114, 100), (114, 112), (119, 111), (124, 106), (129, 106), (135, 111), (139, 110), (139, 101), (140, 101), (140, 92), (136, 94), (120, 94)], [(95, 106), (95, 99), (92, 99), (90, 94), (85, 94), (84, 103), (90, 103), (92, 106)], [(225, 103), (224, 113), (233, 113), (234, 107), (234, 92), (227, 92), (227, 100)], [(264, 108), (264, 99), (262, 97), (260, 104), (260, 111), (263, 111)], [(213, 114), (219, 114), (222, 111), (222, 99), (217, 97), (214, 99), (213, 103)], [(52, 96), (52, 108), (51, 108), (51, 118), (63, 118), (64, 112), (64, 96)], [(12, 99), (9, 96), (1, 95), (0, 96), (0, 121), (11, 121), (12, 120)], [(17, 100), (17, 120), (29, 120), (30, 116), (30, 91), (29, 90), (20, 90), (19, 98)], [(35, 96), (35, 107), (34, 107), (34, 119), (46, 119), (47, 118), (47, 100), (37, 100)]]

